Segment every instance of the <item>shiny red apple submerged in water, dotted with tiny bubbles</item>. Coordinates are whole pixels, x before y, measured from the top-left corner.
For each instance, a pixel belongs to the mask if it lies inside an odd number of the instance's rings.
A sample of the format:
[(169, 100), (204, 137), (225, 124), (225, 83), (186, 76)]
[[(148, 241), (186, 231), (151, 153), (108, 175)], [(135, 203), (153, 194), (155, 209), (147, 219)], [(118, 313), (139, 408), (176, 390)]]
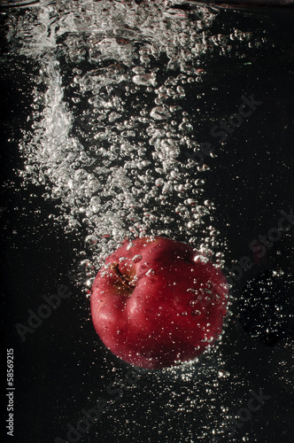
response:
[(227, 302), (227, 281), (211, 261), (175, 240), (143, 237), (105, 260), (92, 287), (91, 315), (113, 354), (162, 369), (195, 359), (215, 342)]

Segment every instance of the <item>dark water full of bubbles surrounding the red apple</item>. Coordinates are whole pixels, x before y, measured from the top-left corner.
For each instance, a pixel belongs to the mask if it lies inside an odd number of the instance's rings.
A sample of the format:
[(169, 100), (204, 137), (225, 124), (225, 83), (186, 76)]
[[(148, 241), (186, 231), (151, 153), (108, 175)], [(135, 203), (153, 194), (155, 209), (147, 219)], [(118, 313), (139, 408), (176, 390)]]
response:
[[(1, 13), (14, 441), (66, 441), (98, 399), (111, 408), (68, 441), (293, 441), (292, 15), (173, 6)], [(100, 262), (143, 234), (190, 243), (231, 284), (219, 346), (162, 373), (118, 361), (89, 316)], [(21, 341), (60, 285), (72, 295)]]

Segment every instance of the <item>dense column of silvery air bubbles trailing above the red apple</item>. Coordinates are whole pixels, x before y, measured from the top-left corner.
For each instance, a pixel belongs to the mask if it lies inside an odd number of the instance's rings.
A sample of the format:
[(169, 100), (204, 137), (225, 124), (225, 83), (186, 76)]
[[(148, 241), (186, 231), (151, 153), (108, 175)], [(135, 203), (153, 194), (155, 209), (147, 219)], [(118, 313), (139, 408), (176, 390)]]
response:
[(204, 72), (213, 13), (193, 23), (165, 2), (63, 8), (29, 11), (15, 29), (19, 53), (40, 66), (21, 175), (47, 186), (68, 229), (85, 235), (92, 273), (126, 238), (175, 237), (212, 254), (213, 204), (198, 177), (209, 168), (185, 104)]

